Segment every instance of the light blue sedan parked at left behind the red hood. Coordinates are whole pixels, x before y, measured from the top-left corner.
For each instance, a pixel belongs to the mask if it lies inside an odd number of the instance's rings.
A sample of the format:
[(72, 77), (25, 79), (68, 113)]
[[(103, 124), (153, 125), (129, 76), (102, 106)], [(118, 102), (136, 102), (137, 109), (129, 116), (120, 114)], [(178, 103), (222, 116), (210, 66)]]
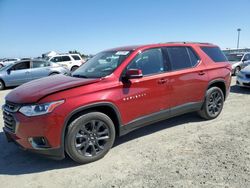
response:
[(0, 68), (0, 90), (55, 74), (70, 73), (68, 69), (49, 61), (36, 59), (17, 61)]

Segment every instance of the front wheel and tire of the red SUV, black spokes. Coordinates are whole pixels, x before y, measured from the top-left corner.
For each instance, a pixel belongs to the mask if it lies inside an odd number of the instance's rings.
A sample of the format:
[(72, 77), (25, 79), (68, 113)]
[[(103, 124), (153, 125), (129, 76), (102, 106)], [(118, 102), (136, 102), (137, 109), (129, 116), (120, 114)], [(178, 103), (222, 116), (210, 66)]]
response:
[(90, 112), (75, 119), (68, 127), (65, 150), (80, 164), (104, 157), (115, 140), (113, 121), (100, 112)]

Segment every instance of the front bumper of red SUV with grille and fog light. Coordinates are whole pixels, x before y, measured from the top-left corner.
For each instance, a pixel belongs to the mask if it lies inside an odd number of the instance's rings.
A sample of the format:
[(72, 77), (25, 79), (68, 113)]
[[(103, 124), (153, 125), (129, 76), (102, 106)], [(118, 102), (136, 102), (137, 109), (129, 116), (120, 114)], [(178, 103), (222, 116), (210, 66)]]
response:
[[(63, 159), (64, 146), (61, 144), (61, 130), (64, 119), (58, 115), (26, 117), (19, 112), (3, 111), (3, 131), (9, 142), (23, 150), (38, 153), (53, 159)], [(12, 124), (10, 124), (12, 122)], [(13, 127), (12, 127), (13, 126)], [(41, 140), (44, 140), (41, 143)]]

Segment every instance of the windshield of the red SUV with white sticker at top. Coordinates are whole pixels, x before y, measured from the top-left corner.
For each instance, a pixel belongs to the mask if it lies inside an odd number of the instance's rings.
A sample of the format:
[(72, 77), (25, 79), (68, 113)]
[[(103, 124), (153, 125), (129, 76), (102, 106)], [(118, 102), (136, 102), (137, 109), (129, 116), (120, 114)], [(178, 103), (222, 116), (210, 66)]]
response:
[(131, 51), (106, 51), (95, 55), (72, 76), (81, 78), (101, 78), (110, 75), (131, 53)]

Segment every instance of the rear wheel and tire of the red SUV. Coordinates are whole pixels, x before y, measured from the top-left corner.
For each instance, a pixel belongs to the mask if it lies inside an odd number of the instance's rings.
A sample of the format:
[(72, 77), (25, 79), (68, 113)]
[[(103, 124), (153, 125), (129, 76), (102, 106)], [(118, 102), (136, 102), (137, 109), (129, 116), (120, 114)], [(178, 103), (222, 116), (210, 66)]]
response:
[(218, 117), (223, 109), (224, 94), (218, 87), (211, 87), (206, 92), (205, 101), (198, 114), (207, 120)]

